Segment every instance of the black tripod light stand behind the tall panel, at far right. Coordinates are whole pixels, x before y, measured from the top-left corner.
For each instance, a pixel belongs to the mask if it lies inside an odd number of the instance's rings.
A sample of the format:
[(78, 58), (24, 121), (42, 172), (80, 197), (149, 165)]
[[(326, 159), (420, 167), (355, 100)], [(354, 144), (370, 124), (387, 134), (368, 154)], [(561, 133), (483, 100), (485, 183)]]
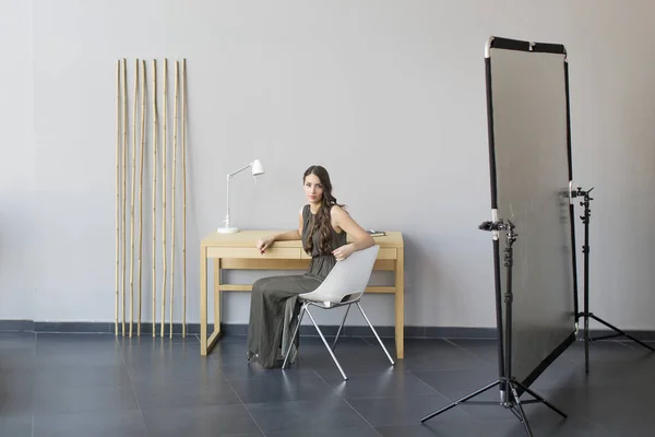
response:
[[(588, 312), (590, 308), (590, 217), (591, 217), (591, 209), (590, 203), (594, 200), (590, 197), (590, 192), (592, 192), (594, 188), (592, 187), (587, 191), (584, 191), (582, 188), (577, 187), (575, 191), (571, 190), (572, 198), (582, 197), (583, 200), (580, 202), (581, 206), (584, 206), (584, 214), (580, 216), (582, 218), (582, 223), (584, 224), (584, 245), (582, 246), (582, 253), (584, 256), (584, 311), (577, 314), (577, 318), (584, 317), (584, 371), (586, 374), (590, 373), (590, 343), (597, 340), (606, 340), (614, 339), (616, 336), (627, 336), (632, 341), (641, 344), (642, 346), (651, 350), (651, 352), (655, 351), (653, 347), (647, 345), (646, 343), (635, 339), (634, 336), (628, 334), (627, 332), (620, 330), (619, 328), (608, 323), (602, 318), (595, 316), (593, 312)], [(590, 336), (590, 318), (596, 320), (599, 323), (605, 324), (616, 333), (602, 335), (596, 338)]]

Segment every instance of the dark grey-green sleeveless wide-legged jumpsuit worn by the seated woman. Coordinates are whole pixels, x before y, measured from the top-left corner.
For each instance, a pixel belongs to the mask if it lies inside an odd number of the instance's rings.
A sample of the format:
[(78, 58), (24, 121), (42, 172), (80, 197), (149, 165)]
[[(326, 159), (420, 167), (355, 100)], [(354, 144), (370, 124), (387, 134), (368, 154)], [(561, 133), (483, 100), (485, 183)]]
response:
[[(309, 204), (302, 209), (302, 244), (309, 237), (314, 215)], [(346, 244), (345, 232), (332, 229), (330, 251)], [(313, 235), (313, 250), (305, 274), (269, 276), (252, 285), (250, 322), (248, 326), (248, 359), (255, 359), (264, 368), (282, 366), (294, 331), (298, 323), (300, 305), (298, 295), (318, 288), (336, 263), (332, 253), (319, 253), (319, 233)], [(298, 353), (298, 339), (289, 353), (294, 363)]]

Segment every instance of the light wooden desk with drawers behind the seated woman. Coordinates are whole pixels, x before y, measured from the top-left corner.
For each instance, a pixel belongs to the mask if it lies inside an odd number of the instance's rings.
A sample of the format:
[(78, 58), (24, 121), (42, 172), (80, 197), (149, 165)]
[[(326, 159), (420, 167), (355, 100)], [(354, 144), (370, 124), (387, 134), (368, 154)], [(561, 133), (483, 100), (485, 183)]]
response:
[[(250, 292), (251, 284), (223, 284), (223, 270), (306, 270), (311, 259), (302, 243), (275, 241), (261, 255), (257, 240), (276, 231), (241, 231), (237, 234), (212, 233), (201, 241), (200, 250), (200, 354), (207, 355), (221, 334), (221, 292)], [(394, 286), (369, 286), (366, 293), (395, 294), (396, 358), (404, 357), (405, 332), (405, 248), (400, 232), (374, 237), (380, 252), (373, 270), (395, 272)], [(350, 240), (348, 238), (348, 240)], [(214, 259), (214, 332), (207, 338), (207, 259)]]

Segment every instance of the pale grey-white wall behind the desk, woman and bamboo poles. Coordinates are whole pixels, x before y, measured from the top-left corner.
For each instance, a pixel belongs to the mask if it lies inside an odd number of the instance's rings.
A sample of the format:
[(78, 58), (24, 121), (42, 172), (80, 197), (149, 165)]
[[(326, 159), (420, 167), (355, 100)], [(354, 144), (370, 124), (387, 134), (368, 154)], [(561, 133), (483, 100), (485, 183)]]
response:
[[(198, 247), (224, 217), (225, 174), (259, 157), (265, 182), (234, 180), (239, 226), (295, 226), (302, 172), (323, 164), (362, 226), (406, 236), (406, 324), (493, 326), (490, 239), (477, 226), (489, 217), (484, 45), (499, 35), (567, 45), (574, 175), (596, 187), (593, 309), (655, 329), (652, 2), (0, 4), (1, 318), (114, 320), (115, 62), (184, 57), (188, 321), (199, 320)], [(148, 205), (150, 170), (145, 181)], [(376, 322), (393, 324), (391, 296), (367, 297)], [(247, 322), (248, 299), (229, 294), (225, 321)]]

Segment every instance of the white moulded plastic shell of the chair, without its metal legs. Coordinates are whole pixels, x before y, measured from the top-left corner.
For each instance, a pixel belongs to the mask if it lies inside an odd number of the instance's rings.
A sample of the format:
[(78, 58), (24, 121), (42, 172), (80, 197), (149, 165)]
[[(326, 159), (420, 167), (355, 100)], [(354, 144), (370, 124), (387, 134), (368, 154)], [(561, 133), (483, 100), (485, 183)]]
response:
[(317, 290), (299, 295), (302, 299), (322, 302), (326, 306), (360, 297), (371, 277), (380, 246), (353, 252), (338, 261)]

